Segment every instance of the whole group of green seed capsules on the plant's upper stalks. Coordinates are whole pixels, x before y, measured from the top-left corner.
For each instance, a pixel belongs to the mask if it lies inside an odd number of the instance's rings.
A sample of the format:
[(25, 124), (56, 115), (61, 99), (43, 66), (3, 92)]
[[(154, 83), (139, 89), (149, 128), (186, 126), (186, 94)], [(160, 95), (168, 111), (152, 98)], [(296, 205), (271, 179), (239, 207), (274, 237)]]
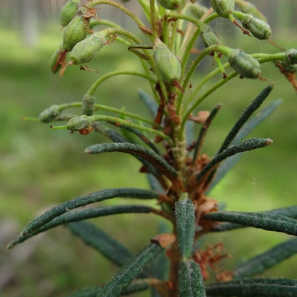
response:
[[(176, 10), (180, 7), (180, 0), (157, 0), (158, 3), (165, 9)], [(64, 27), (63, 44), (58, 49), (53, 57), (51, 68), (56, 73), (64, 62), (68, 53), (70, 64), (80, 65), (94, 59), (99, 51), (104, 47), (111, 32), (108, 29), (103, 29), (98, 32), (93, 32), (90, 27), (91, 17), (96, 16), (96, 13), (90, 13), (90, 6), (83, 5), (79, 7), (79, 0), (69, 0), (61, 10), (60, 22)], [(92, 1), (90, 1), (92, 2)], [(253, 35), (259, 40), (267, 40), (271, 37), (271, 28), (266, 23), (265, 17), (257, 10), (257, 8), (244, 0), (210, 0), (212, 9), (219, 17), (228, 18), (245, 34)], [(235, 10), (235, 4), (240, 7), (241, 11)], [(220, 44), (218, 36), (213, 32), (210, 25), (200, 22), (201, 16), (205, 15), (209, 8), (193, 3), (189, 5), (189, 9), (193, 16), (197, 18), (196, 25), (200, 29), (200, 38), (203, 46), (207, 49), (212, 47), (210, 54), (214, 55), (219, 66), (219, 57), (225, 55), (230, 63), (230, 66), (237, 71), (242, 78), (261, 78), (261, 68), (258, 60), (242, 51), (241, 49), (231, 49)], [(238, 20), (242, 25), (239, 25)], [(169, 85), (180, 86), (183, 81), (183, 71), (180, 60), (176, 55), (162, 42), (162, 36), (154, 40), (153, 59), (155, 67), (161, 76), (161, 79)], [(295, 73), (297, 71), (297, 50), (290, 49), (286, 52), (286, 58), (282, 61), (277, 61), (279, 67), (282, 67), (285, 73)], [(224, 70), (224, 69), (223, 69)], [(83, 113), (90, 116), (94, 112), (95, 97), (86, 95), (83, 99)], [(57, 105), (49, 107), (40, 114), (42, 122), (50, 122), (60, 111)], [(68, 129), (77, 131), (79, 128), (86, 128), (86, 119), (76, 118), (76, 124), (72, 125), (73, 121), (68, 123)]]

